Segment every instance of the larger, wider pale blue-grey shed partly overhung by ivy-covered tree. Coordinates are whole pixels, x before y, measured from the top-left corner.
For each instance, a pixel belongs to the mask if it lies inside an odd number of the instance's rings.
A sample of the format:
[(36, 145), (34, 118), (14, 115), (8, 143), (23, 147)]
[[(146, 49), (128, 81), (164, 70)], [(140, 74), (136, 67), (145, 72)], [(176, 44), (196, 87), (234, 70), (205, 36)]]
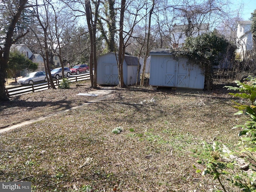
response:
[(149, 84), (156, 87), (204, 88), (204, 71), (184, 56), (174, 58), (170, 49), (150, 52)]

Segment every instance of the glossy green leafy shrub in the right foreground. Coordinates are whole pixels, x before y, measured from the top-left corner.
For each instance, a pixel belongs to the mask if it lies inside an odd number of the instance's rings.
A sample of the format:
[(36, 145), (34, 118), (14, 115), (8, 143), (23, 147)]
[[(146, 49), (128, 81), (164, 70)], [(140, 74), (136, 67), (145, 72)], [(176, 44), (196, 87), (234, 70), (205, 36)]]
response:
[[(225, 174), (228, 182), (231, 182), (234, 186), (238, 186), (244, 192), (256, 192), (256, 78), (248, 76), (244, 79), (244, 82), (235, 81), (237, 86), (225, 86), (228, 90), (234, 91), (229, 93), (230, 95), (240, 98), (239, 102), (234, 102), (234, 108), (239, 111), (235, 115), (246, 115), (248, 121), (244, 124), (236, 125), (233, 127), (241, 128), (239, 132), (238, 145), (242, 150), (236, 152), (225, 152), (218, 142), (209, 144), (203, 142), (203, 149), (200, 151), (191, 150), (193, 154), (191, 156), (197, 158), (197, 163), (203, 165), (204, 170), (197, 169), (197, 173), (202, 175), (210, 174), (214, 180), (218, 180), (224, 192), (226, 188), (221, 180), (221, 175)], [(238, 91), (238, 92), (237, 92)], [(230, 155), (236, 155), (237, 158), (229, 158)], [(249, 164), (250, 172), (239, 175), (234, 174), (234, 165), (236, 159), (243, 159)], [(196, 166), (194, 165), (194, 168)], [(232, 174), (227, 170), (232, 170)]]

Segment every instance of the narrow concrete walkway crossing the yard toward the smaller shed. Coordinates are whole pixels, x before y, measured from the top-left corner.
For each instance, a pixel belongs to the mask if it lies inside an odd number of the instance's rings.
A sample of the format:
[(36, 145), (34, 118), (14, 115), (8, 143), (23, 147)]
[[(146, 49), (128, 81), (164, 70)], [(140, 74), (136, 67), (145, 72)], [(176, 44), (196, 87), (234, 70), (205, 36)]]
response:
[(96, 91), (91, 91), (91, 92), (84, 93), (84, 94), (83, 93), (79, 93), (78, 95), (80, 95), (81, 97), (83, 95), (86, 95), (86, 96), (104, 95), (104, 96), (95, 98), (93, 100), (90, 100), (90, 101), (88, 101), (86, 103), (83, 103), (83, 104), (81, 104), (79, 106), (72, 107), (70, 109), (66, 109), (66, 110), (63, 110), (63, 111), (60, 111), (60, 112), (56, 112), (54, 114), (50, 114), (50, 115), (44, 116), (44, 117), (40, 117), (40, 118), (37, 118), (37, 119), (32, 119), (32, 120), (25, 121), (25, 122), (22, 122), (22, 123), (19, 123), (19, 124), (15, 124), (13, 126), (2, 128), (2, 129), (0, 129), (0, 133), (6, 132), (6, 131), (9, 131), (9, 130), (12, 130), (12, 129), (15, 129), (15, 128), (18, 128), (18, 127), (21, 127), (21, 126), (24, 126), (24, 125), (28, 125), (28, 124), (31, 124), (31, 123), (34, 123), (34, 122), (42, 121), (42, 120), (45, 120), (45, 119), (47, 119), (49, 117), (57, 116), (58, 114), (66, 113), (66, 112), (68, 112), (70, 110), (74, 110), (74, 109), (77, 109), (77, 108), (80, 108), (80, 107), (83, 107), (83, 106), (86, 106), (86, 105), (90, 105), (92, 103), (99, 102), (101, 100), (104, 100), (106, 98), (109, 98), (109, 97), (113, 96), (113, 93), (114, 93), (114, 90), (110, 90), (110, 89), (96, 90)]

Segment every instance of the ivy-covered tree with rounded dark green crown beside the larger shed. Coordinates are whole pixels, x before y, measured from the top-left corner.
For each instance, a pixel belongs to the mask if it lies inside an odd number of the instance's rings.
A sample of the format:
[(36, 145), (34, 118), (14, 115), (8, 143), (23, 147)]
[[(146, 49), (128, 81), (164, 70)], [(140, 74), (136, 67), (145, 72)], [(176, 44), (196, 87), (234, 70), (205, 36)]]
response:
[[(234, 48), (223, 36), (216, 32), (204, 33), (197, 37), (188, 37), (184, 47), (175, 52), (176, 55), (188, 56), (191, 63), (199, 65), (205, 72), (205, 89), (212, 89), (213, 66), (218, 66), (225, 56), (233, 55)], [(234, 47), (234, 46), (233, 46)], [(228, 53), (228, 50), (232, 50)]]

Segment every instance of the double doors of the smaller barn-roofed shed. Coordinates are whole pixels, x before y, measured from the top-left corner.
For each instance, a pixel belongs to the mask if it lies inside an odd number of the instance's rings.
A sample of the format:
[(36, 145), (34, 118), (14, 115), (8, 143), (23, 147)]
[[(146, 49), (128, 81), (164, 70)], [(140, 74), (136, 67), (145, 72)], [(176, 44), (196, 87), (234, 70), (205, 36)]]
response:
[(104, 84), (106, 85), (119, 84), (117, 64), (113, 64), (113, 63), (104, 64)]

